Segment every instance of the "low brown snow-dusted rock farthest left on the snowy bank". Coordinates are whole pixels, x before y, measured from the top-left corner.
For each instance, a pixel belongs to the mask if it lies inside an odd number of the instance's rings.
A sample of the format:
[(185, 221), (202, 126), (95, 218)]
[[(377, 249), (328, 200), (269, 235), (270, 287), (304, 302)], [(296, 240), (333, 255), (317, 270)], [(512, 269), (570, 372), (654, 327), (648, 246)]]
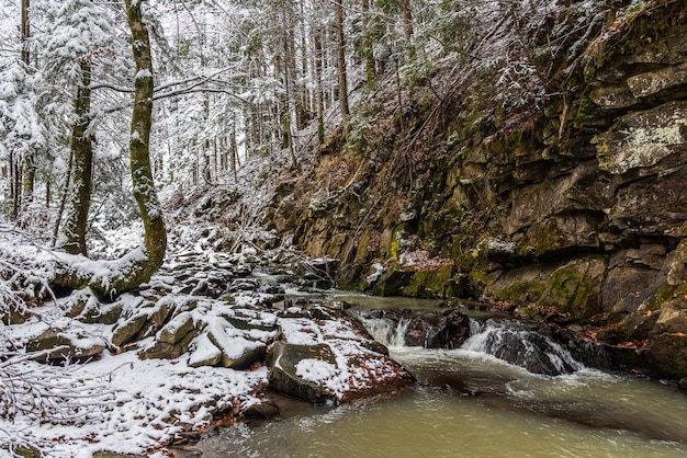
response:
[(100, 356), (105, 348), (106, 345), (101, 339), (85, 335), (79, 331), (64, 331), (57, 328), (49, 328), (26, 343), (26, 352), (55, 350), (45, 357), (50, 362), (64, 358), (87, 360)]

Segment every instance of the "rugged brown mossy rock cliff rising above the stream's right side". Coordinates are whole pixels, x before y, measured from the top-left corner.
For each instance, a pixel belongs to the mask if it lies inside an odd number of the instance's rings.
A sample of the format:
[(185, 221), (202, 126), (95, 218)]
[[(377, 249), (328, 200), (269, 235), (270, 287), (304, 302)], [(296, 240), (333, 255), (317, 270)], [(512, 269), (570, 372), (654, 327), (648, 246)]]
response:
[(333, 136), (268, 220), (341, 260), (344, 285), (509, 301), (687, 376), (687, 5), (604, 14), (551, 19), (587, 22), (565, 55), (532, 58), (519, 106), (446, 60), (393, 110), (379, 91), (359, 113), (372, 126)]

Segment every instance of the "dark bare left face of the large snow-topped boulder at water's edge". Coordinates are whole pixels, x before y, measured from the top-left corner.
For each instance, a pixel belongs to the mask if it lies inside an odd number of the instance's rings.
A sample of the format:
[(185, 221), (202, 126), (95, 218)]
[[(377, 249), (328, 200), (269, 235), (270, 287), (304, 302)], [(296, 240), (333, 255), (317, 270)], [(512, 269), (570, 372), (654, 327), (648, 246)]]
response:
[(334, 400), (334, 393), (314, 381), (303, 379), (297, 373), (297, 364), (304, 359), (315, 359), (336, 365), (336, 358), (326, 344), (296, 345), (274, 342), (266, 359), (269, 368), (270, 387), (284, 394), (314, 403)]

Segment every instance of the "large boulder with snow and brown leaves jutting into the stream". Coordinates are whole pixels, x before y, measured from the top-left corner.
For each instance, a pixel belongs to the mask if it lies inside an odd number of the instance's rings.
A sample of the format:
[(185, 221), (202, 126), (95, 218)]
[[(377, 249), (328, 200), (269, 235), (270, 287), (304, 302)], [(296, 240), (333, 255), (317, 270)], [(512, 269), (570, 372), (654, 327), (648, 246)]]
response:
[(325, 306), (288, 310), (266, 360), (270, 386), (309, 402), (392, 391), (413, 376), (346, 313)]

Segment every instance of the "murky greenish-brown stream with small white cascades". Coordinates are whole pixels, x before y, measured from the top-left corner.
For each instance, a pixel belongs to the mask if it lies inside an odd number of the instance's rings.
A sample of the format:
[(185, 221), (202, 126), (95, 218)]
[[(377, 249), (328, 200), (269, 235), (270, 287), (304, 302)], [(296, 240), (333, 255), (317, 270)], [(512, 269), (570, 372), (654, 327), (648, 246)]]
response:
[[(363, 311), (436, 307), (356, 301)], [(529, 332), (478, 318), (455, 350), (405, 346), (388, 322), (363, 318), (416, 376), (413, 389), (338, 407), (282, 400), (278, 419), (215, 430), (194, 448), (205, 458), (687, 456), (687, 396), (675, 387), (584, 367), (555, 345), (551, 359), (570, 374), (529, 373), (495, 356), (514, 336), (527, 353)]]

